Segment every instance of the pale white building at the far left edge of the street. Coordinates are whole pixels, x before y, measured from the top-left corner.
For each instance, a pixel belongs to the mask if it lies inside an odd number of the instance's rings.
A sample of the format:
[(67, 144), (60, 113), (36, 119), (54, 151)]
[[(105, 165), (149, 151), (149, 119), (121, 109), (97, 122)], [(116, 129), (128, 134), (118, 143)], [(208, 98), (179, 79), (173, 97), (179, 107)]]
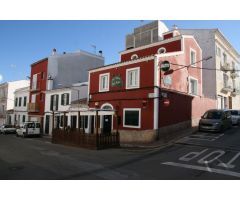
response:
[[(15, 90), (29, 86), (29, 80), (11, 81), (0, 84), (0, 125), (11, 123), (14, 109)], [(9, 114), (7, 114), (9, 113)]]

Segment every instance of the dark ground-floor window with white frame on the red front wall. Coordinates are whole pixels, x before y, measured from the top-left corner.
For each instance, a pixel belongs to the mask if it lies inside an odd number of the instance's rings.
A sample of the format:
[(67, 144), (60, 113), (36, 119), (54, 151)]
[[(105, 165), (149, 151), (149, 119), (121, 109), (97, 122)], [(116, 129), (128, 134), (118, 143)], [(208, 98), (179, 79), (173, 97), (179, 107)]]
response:
[(129, 128), (141, 127), (141, 109), (140, 108), (123, 109), (123, 127), (129, 127)]

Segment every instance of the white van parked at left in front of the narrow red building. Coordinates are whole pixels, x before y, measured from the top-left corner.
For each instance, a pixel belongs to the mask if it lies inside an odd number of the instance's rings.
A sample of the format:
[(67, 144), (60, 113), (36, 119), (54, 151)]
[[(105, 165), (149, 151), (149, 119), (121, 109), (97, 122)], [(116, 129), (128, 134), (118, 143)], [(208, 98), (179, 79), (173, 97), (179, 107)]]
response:
[(25, 122), (20, 125), (16, 131), (17, 136), (27, 137), (29, 135), (40, 136), (40, 123), (39, 122)]

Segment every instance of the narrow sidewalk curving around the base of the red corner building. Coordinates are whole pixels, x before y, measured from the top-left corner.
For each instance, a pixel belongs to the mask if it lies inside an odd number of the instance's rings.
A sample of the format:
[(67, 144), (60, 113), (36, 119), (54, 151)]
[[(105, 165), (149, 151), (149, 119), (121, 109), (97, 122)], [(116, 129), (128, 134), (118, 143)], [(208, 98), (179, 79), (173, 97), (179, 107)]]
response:
[(171, 144), (173, 144), (174, 142), (176, 142), (177, 140), (179, 140), (180, 138), (186, 137), (188, 135), (194, 134), (196, 133), (198, 130), (197, 127), (193, 127), (193, 128), (189, 128), (189, 129), (185, 129), (179, 132), (176, 132), (177, 137), (175, 137), (174, 139), (171, 139), (169, 141), (164, 141), (162, 139), (154, 141), (152, 143), (147, 143), (147, 144), (121, 144), (122, 148), (126, 148), (126, 149), (154, 149), (154, 148), (164, 148), (167, 147)]

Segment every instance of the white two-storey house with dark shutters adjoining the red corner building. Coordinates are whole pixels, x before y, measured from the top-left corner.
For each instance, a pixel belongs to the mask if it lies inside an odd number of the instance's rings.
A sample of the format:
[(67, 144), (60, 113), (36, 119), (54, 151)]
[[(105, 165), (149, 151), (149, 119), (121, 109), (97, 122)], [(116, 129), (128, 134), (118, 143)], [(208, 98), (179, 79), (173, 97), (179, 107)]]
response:
[(78, 111), (81, 113), (81, 126), (85, 125), (88, 132), (88, 119), (83, 111), (88, 110), (88, 84), (78, 83), (72, 87), (62, 87), (45, 92), (44, 133), (52, 134), (52, 117), (54, 112), (54, 128), (63, 127), (65, 114), (65, 127), (78, 128)]

